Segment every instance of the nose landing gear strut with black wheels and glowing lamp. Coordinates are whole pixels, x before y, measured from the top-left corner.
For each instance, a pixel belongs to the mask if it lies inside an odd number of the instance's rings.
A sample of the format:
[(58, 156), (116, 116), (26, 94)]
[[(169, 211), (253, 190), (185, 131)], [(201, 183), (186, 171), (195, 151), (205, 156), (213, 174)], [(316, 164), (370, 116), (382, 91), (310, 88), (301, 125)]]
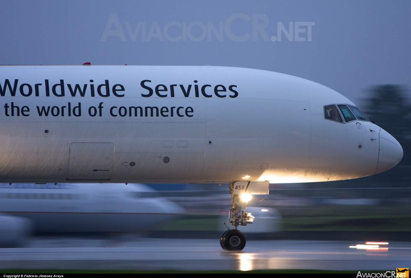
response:
[[(229, 221), (223, 222), (227, 227), (227, 231), (223, 232), (220, 237), (220, 245), (227, 251), (241, 251), (245, 247), (245, 236), (238, 230), (238, 226), (245, 226), (253, 223), (254, 217), (248, 214), (243, 209), (247, 209), (248, 199), (240, 194), (234, 194), (234, 183), (230, 183), (231, 202), (233, 207), (229, 211)], [(244, 189), (244, 188), (243, 188)], [(227, 223), (231, 223), (231, 230)]]

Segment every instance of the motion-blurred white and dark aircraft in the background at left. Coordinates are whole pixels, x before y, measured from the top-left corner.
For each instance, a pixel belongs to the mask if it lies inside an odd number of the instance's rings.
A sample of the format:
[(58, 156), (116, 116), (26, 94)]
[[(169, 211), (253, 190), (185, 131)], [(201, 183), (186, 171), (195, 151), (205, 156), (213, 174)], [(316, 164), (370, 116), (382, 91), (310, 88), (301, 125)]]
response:
[(32, 232), (144, 233), (185, 210), (143, 184), (0, 184), (0, 245)]

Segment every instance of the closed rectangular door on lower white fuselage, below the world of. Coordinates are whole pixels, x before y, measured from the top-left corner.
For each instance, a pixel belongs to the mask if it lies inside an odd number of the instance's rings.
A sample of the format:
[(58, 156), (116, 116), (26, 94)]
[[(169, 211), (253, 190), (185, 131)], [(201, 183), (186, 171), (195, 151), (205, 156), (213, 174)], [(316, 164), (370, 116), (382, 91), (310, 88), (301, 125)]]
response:
[(67, 180), (110, 180), (113, 143), (71, 143)]

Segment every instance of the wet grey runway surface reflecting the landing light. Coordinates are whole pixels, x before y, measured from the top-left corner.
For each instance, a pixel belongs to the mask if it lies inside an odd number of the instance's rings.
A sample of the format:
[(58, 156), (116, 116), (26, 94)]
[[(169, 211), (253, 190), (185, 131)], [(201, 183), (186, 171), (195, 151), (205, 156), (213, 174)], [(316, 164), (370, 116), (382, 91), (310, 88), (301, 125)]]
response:
[(349, 248), (360, 241), (247, 241), (242, 252), (213, 239), (35, 238), (1, 248), (0, 268), (27, 269), (330, 269), (394, 270), (411, 264), (411, 242)]

